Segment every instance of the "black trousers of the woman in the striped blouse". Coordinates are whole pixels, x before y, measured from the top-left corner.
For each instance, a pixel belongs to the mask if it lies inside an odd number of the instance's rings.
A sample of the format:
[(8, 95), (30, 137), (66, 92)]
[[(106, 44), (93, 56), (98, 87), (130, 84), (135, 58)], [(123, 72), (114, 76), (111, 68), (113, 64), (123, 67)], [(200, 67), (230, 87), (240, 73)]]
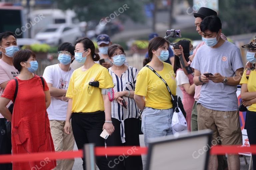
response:
[[(132, 146), (131, 152), (136, 152), (136, 147), (140, 145), (139, 139), (139, 119), (128, 118), (124, 121), (125, 143), (121, 142), (120, 124), (121, 122), (112, 118), (115, 131), (106, 139), (108, 146)], [(142, 170), (141, 156), (108, 156), (108, 165), (111, 170)]]

